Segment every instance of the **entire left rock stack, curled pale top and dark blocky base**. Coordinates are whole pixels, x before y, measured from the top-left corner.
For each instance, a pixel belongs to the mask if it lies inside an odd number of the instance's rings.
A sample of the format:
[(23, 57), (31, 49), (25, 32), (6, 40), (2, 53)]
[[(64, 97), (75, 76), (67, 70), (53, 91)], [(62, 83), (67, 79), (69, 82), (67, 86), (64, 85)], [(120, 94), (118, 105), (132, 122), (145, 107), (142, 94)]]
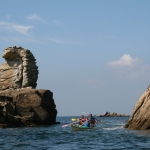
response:
[(56, 124), (53, 93), (36, 89), (38, 67), (30, 50), (8, 47), (0, 65), (0, 127)]

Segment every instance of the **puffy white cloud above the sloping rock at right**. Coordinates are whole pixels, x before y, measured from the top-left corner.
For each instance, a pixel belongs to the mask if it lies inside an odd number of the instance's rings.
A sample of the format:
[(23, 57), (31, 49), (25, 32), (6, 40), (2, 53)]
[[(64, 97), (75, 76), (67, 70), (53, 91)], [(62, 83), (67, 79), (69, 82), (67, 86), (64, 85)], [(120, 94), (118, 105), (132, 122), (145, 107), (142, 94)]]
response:
[(108, 62), (107, 65), (115, 69), (120, 77), (139, 79), (150, 76), (150, 66), (139, 58), (132, 58), (129, 54), (124, 54), (118, 60)]

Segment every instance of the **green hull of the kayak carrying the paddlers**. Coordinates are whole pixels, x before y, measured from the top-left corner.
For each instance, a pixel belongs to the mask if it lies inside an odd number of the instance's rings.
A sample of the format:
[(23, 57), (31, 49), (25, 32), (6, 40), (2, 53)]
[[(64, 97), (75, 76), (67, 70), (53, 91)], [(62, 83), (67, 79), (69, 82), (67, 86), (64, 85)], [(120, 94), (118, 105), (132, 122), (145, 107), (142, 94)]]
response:
[(87, 131), (87, 130), (94, 130), (96, 129), (96, 125), (93, 125), (91, 127), (85, 127), (78, 124), (72, 124), (71, 125), (72, 131)]

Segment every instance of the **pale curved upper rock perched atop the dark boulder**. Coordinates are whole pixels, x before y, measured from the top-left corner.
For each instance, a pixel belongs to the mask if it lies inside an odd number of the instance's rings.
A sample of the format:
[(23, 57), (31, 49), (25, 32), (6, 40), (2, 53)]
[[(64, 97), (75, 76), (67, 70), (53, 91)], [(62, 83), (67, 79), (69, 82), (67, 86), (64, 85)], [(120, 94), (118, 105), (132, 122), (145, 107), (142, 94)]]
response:
[(0, 66), (0, 90), (36, 88), (38, 67), (30, 50), (8, 47), (4, 50), (3, 58), (6, 62)]

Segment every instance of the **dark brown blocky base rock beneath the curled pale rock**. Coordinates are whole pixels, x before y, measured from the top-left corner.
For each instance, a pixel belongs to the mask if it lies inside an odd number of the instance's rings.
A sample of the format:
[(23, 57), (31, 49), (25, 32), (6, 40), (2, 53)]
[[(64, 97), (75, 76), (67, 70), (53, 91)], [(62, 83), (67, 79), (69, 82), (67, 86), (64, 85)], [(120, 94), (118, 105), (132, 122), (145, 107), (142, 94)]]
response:
[(0, 126), (19, 127), (56, 123), (53, 93), (42, 89), (5, 90), (0, 93)]

